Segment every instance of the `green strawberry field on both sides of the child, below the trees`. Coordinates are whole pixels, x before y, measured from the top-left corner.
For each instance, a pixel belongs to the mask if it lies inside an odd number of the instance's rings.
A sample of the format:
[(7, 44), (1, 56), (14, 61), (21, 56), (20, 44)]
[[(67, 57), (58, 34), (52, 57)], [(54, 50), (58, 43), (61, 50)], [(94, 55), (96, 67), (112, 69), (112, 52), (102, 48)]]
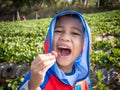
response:
[[(120, 10), (84, 14), (92, 32), (91, 71), (95, 71), (97, 84), (94, 90), (109, 90), (120, 87)], [(17, 65), (30, 65), (33, 58), (43, 52), (43, 41), (51, 18), (0, 23), (0, 63), (12, 62)], [(108, 81), (102, 79), (101, 69), (109, 71), (115, 68), (117, 83), (110, 87)], [(101, 72), (99, 72), (101, 71)], [(1, 72), (0, 72), (1, 74)], [(1, 77), (1, 75), (0, 75)], [(106, 79), (108, 77), (106, 76)], [(15, 90), (22, 79), (6, 80), (6, 85), (0, 86), (7, 90)], [(95, 81), (95, 80), (93, 80)], [(107, 84), (106, 84), (107, 82)], [(109, 81), (110, 84), (115, 83)], [(118, 89), (114, 89), (118, 90)]]

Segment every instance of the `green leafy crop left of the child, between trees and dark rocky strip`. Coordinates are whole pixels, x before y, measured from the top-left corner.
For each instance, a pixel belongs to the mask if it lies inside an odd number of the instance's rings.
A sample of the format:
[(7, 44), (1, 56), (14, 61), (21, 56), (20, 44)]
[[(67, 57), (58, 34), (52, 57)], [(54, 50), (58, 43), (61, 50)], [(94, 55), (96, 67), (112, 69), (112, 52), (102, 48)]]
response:
[(43, 41), (49, 21), (50, 19), (41, 19), (40, 21), (1, 23), (1, 61), (30, 63), (34, 56), (43, 53)]

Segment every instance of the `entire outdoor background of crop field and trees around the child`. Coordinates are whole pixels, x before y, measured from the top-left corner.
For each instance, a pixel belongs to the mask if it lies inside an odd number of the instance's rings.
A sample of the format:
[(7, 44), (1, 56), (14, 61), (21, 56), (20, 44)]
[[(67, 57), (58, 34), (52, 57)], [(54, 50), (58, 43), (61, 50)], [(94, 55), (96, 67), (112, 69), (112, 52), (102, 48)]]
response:
[(119, 90), (120, 0), (0, 0), (0, 90), (17, 89), (25, 65), (44, 53), (51, 18), (68, 9), (83, 13), (91, 28), (93, 90)]

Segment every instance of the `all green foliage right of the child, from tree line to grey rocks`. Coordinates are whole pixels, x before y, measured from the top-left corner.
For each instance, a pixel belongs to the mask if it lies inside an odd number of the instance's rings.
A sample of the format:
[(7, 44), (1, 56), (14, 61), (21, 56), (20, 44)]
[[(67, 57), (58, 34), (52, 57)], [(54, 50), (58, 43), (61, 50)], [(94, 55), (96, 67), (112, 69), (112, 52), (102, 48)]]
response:
[[(100, 63), (103, 67), (111, 65), (120, 68), (120, 11), (101, 12), (85, 15), (92, 31), (91, 62)], [(114, 36), (112, 39), (95, 41), (103, 35)], [(103, 37), (104, 38), (104, 37)]]

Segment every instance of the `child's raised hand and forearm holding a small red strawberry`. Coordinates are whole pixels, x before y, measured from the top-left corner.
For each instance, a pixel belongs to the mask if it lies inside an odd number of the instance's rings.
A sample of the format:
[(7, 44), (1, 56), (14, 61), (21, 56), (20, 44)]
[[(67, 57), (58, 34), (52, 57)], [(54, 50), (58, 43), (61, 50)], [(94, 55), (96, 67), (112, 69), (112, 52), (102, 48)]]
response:
[(31, 63), (30, 90), (35, 90), (43, 83), (45, 73), (54, 64), (56, 57), (57, 53), (55, 51), (48, 54), (39, 54)]

